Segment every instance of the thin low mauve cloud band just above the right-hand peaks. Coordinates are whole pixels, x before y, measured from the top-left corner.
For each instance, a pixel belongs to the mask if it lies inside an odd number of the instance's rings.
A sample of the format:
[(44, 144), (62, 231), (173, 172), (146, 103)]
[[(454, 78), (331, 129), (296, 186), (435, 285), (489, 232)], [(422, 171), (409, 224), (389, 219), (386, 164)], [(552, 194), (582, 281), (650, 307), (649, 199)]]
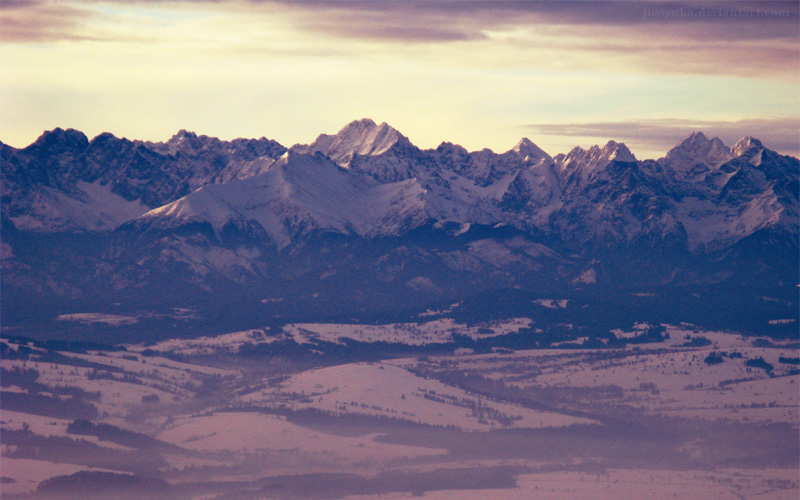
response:
[(701, 131), (709, 137), (719, 137), (727, 145), (752, 135), (770, 149), (783, 154), (800, 156), (800, 121), (797, 118), (752, 118), (745, 120), (685, 120), (657, 119), (593, 123), (527, 124), (531, 134), (551, 137), (580, 137), (603, 143), (609, 139), (625, 142), (634, 152), (661, 151), (662, 155), (685, 139)]

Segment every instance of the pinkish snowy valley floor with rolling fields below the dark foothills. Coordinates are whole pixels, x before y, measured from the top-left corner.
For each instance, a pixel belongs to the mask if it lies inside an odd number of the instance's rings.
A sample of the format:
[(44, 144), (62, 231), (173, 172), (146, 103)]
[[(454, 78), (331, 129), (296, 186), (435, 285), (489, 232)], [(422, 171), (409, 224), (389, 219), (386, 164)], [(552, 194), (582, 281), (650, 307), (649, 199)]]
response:
[[(798, 498), (796, 343), (636, 325), (614, 348), (441, 348), (524, 326), (287, 325), (105, 351), (4, 338), (0, 491)], [(326, 354), (354, 340), (384, 344), (368, 360)], [(426, 345), (440, 348), (414, 354)]]

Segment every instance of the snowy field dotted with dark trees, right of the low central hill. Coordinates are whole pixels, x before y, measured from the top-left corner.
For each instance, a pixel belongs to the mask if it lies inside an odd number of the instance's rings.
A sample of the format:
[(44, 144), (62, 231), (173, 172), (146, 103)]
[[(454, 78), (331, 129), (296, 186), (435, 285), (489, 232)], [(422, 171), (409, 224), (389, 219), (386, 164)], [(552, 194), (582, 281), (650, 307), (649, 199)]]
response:
[[(633, 339), (646, 327), (616, 332), (616, 336)], [(615, 396), (606, 402), (653, 414), (800, 424), (798, 365), (781, 361), (797, 356), (787, 342), (784, 348), (780, 342), (756, 347), (759, 339), (752, 337), (697, 333), (677, 326), (667, 327), (666, 333), (669, 338), (663, 342), (629, 344), (626, 349), (539, 349), (446, 358), (446, 363), (448, 369), (456, 364), (523, 389), (595, 389), (600, 393), (613, 388)], [(686, 346), (697, 338), (708, 345)], [(709, 356), (716, 356), (717, 363), (707, 362)], [(436, 360), (431, 364), (435, 366)], [(754, 360), (772, 368), (752, 366)], [(391, 363), (409, 367), (417, 361)]]

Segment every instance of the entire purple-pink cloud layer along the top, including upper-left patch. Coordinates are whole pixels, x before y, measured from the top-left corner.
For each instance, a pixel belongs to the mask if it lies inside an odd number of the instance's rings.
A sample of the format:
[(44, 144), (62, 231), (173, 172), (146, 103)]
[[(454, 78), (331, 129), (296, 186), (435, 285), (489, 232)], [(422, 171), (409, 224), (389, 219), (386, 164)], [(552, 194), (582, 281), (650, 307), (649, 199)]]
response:
[[(156, 0), (121, 5), (162, 6)], [(491, 39), (504, 52), (585, 69), (610, 57), (620, 68), (663, 73), (798, 77), (800, 3), (774, 1), (178, 0), (284, 19), (299, 32), (378, 44)], [(2, 39), (94, 39), (83, 22), (98, 2), (3, 2)], [(78, 7), (80, 6), (80, 7)], [(299, 35), (298, 35), (299, 36)], [(468, 49), (466, 49), (468, 50)], [(482, 50), (486, 50), (483, 48)], [(542, 52), (549, 54), (541, 56)], [(524, 57), (525, 55), (522, 55)], [(549, 56), (549, 57), (548, 57)], [(519, 57), (516, 58), (519, 60)]]

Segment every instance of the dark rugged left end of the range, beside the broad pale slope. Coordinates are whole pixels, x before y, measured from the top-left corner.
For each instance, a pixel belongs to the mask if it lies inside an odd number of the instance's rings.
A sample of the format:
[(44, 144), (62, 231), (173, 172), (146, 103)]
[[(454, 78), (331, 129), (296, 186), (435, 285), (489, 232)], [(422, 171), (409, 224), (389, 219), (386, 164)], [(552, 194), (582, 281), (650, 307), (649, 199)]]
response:
[(285, 151), (181, 131), (143, 143), (55, 129), (25, 149), (0, 145), (3, 216), (21, 230), (108, 231), (202, 186), (264, 170)]

